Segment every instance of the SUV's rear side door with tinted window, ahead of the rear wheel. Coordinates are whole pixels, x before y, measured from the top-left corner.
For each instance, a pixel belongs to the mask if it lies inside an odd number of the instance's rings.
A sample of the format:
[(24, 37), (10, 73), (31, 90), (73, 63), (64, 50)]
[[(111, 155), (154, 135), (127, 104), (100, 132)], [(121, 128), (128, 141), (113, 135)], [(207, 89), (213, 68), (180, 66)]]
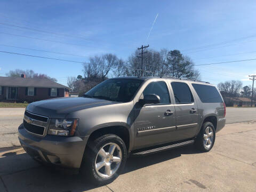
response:
[(194, 137), (198, 127), (198, 108), (186, 82), (171, 82), (175, 99), (175, 116), (177, 140)]

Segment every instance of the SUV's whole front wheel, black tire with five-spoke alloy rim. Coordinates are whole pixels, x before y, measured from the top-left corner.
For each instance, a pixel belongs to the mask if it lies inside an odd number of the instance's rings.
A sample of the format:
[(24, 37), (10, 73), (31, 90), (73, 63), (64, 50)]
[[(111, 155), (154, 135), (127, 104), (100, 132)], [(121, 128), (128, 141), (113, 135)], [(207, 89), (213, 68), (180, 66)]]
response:
[(115, 134), (103, 135), (89, 141), (85, 151), (84, 172), (97, 185), (114, 181), (122, 171), (127, 158), (124, 141)]

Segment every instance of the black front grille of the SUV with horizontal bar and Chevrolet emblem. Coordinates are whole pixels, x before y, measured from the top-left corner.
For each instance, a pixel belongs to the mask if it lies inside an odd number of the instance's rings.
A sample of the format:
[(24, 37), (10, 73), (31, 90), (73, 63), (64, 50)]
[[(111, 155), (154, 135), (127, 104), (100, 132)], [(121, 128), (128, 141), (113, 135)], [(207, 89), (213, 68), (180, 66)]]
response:
[(48, 117), (32, 114), (28, 111), (25, 111), (23, 126), (28, 132), (43, 136), (47, 122)]

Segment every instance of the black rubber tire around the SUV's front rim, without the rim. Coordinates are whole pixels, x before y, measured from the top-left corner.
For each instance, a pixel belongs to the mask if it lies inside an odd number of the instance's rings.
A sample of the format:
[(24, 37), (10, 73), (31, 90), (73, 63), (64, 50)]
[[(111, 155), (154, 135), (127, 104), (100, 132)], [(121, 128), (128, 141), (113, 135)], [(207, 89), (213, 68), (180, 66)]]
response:
[[(117, 171), (110, 177), (103, 178), (97, 173), (95, 169), (95, 161), (97, 160), (96, 158), (98, 156), (99, 150), (108, 143), (115, 143), (116, 145), (119, 146), (119, 148), (122, 151), (122, 158)], [(119, 151), (119, 149), (117, 150)], [(126, 163), (126, 159), (127, 159), (127, 149), (124, 141), (115, 134), (102, 135), (101, 137), (91, 140), (87, 143), (87, 147), (84, 153), (83, 163), (81, 166), (81, 172), (86, 173), (89, 176), (89, 179), (95, 185), (107, 185), (108, 183), (114, 181), (118, 177), (118, 175), (122, 172)]]

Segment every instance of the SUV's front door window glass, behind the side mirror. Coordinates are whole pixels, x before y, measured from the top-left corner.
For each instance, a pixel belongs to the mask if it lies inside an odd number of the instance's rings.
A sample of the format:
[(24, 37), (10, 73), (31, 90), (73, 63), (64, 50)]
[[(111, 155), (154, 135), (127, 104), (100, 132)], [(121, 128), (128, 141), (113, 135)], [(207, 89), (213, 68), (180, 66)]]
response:
[(143, 91), (143, 97), (147, 94), (157, 94), (160, 97), (160, 103), (171, 103), (167, 85), (163, 81), (152, 82)]

